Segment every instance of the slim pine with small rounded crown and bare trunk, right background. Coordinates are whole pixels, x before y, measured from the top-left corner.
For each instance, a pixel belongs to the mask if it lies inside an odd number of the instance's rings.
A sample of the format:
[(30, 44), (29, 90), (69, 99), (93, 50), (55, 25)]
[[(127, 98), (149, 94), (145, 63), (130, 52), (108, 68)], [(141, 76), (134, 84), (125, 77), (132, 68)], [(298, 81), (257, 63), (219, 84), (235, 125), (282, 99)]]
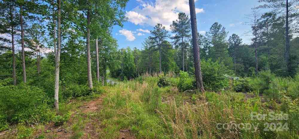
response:
[(239, 48), (241, 43), (242, 43), (242, 39), (236, 34), (231, 35), (228, 39), (228, 44), (229, 44), (228, 49), (232, 50), (232, 56), (234, 58), (235, 74), (236, 74), (236, 49)]

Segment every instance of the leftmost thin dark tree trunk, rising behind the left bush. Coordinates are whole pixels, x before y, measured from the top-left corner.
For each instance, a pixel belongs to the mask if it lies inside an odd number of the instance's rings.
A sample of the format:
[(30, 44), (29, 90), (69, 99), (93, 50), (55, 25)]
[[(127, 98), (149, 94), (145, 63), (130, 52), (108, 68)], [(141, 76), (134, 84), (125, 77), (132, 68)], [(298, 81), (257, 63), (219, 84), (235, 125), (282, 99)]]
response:
[(11, 47), (13, 50), (13, 85), (17, 85), (16, 79), (16, 56), (15, 56), (15, 40), (14, 40), (14, 32), (13, 32), (13, 7), (10, 7), (10, 22), (11, 22)]

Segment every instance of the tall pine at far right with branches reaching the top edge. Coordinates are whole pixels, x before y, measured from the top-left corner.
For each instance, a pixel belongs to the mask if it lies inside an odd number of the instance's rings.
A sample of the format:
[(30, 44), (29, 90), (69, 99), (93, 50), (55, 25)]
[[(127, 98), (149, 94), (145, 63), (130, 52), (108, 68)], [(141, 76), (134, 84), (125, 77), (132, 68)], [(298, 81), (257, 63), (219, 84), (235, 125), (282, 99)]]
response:
[(258, 8), (271, 8), (274, 12), (281, 14), (286, 19), (285, 26), (285, 52), (284, 59), (286, 62), (286, 69), (289, 71), (290, 65), (290, 29), (292, 28), (294, 33), (298, 33), (298, 21), (299, 18), (298, 6), (299, 0), (259, 0), (259, 2), (265, 2), (266, 4), (260, 5)]

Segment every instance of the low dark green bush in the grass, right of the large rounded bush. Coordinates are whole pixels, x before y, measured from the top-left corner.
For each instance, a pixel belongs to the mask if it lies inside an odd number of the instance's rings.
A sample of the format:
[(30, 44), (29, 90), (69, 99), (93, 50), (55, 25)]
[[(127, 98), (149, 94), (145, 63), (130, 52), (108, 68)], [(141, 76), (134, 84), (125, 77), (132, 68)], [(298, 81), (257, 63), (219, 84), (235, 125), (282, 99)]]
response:
[(249, 83), (249, 78), (240, 78), (234, 80), (234, 90), (236, 92), (249, 92), (253, 90), (253, 86)]

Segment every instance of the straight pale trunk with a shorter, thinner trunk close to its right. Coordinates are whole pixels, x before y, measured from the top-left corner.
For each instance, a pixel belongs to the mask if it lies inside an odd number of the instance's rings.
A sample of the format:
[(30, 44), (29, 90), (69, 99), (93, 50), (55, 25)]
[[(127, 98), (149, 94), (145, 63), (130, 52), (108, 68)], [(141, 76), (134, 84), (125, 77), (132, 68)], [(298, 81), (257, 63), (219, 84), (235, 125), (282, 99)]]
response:
[(92, 89), (92, 78), (91, 78), (91, 60), (90, 60), (90, 9), (87, 10), (87, 26), (86, 26), (86, 47), (87, 47), (87, 79), (89, 89)]

